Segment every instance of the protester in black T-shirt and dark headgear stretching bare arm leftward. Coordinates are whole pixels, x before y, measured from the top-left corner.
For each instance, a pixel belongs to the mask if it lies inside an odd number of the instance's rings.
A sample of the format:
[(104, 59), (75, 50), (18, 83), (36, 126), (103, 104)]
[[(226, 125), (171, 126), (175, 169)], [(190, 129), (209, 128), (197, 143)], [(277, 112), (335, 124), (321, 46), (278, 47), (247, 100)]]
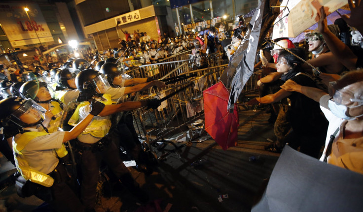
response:
[[(299, 48), (289, 50), (300, 58), (305, 58), (304, 50)], [(283, 73), (281, 77), (283, 81), (291, 79), (300, 85), (315, 87), (315, 81), (304, 74), (302, 63), (286, 50), (282, 50), (277, 59), (277, 71)], [(327, 130), (327, 120), (322, 117), (319, 104), (300, 93), (281, 89), (274, 94), (254, 98), (247, 105), (270, 104), (286, 97), (289, 97), (291, 105), (288, 120), (291, 123), (292, 132), (289, 136), (293, 136), (293, 139), (289, 140), (293, 142), (289, 145), (294, 149), (300, 147), (300, 152), (318, 158)]]

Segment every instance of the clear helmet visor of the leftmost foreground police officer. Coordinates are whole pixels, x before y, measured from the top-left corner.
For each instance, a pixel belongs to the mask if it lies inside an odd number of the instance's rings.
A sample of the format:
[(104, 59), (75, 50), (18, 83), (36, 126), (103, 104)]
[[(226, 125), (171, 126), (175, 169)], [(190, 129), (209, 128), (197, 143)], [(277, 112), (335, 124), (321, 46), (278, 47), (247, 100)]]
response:
[(36, 123), (42, 118), (42, 114), (46, 112), (43, 107), (32, 99), (24, 99), (24, 101), (26, 102), (8, 117), (10, 121), (21, 127), (26, 127), (27, 124)]

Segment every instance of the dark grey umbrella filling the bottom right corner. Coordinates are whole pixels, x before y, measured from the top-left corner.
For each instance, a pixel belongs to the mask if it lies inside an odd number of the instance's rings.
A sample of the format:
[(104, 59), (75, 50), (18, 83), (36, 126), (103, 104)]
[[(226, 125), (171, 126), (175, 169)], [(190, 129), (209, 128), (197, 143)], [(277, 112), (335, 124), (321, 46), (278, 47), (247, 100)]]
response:
[(284, 148), (252, 212), (361, 212), (363, 175)]

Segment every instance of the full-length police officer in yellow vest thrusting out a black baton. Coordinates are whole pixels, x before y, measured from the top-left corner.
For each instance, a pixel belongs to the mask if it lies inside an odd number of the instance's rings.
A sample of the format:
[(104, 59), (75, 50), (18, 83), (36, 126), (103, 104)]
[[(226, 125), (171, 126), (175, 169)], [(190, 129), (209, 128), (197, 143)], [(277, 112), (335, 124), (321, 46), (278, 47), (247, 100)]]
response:
[(87, 210), (94, 210), (101, 160), (108, 164), (125, 187), (141, 201), (147, 201), (147, 194), (141, 190), (139, 184), (132, 178), (131, 173), (119, 157), (118, 148), (108, 137), (111, 128), (110, 115), (143, 106), (157, 108), (160, 102), (158, 100), (148, 100), (112, 104), (111, 95), (105, 94), (110, 87), (108, 81), (103, 74), (93, 69), (79, 72), (75, 78), (75, 84), (80, 91), (77, 99), (80, 104), (75, 109), (68, 122), (69, 124), (74, 125), (84, 119), (84, 115), (90, 110), (87, 100), (96, 99), (106, 105), (99, 116), (94, 117), (87, 128), (77, 137), (76, 148), (81, 153), (78, 157), (78, 164), (81, 166), (83, 176), (81, 201), (87, 206)]

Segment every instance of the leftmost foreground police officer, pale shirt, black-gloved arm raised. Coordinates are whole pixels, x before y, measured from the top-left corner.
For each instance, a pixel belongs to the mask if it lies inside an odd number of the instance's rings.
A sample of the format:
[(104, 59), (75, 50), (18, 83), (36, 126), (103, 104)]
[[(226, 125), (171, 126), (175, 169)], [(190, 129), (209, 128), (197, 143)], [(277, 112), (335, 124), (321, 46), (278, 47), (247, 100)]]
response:
[(76, 138), (92, 118), (103, 109), (100, 102), (92, 102), (90, 107), (90, 114), (87, 114), (71, 131), (57, 131), (49, 134), (38, 125), (42, 122), (42, 113), (45, 110), (36, 102), (21, 97), (11, 97), (0, 101), (1, 124), (11, 126), (14, 131), (17, 131), (12, 145), (16, 168), (21, 174), (17, 181), (22, 183), (16, 183), (16, 186), (21, 188), (24, 181), (32, 185), (32, 189), (29, 190), (31, 193), (25, 193), (22, 190), (23, 192), (19, 195), (34, 194), (57, 212), (83, 211), (84, 208), (79, 199), (66, 183), (68, 175), (58, 157), (67, 154), (67, 151), (62, 149), (62, 144)]

